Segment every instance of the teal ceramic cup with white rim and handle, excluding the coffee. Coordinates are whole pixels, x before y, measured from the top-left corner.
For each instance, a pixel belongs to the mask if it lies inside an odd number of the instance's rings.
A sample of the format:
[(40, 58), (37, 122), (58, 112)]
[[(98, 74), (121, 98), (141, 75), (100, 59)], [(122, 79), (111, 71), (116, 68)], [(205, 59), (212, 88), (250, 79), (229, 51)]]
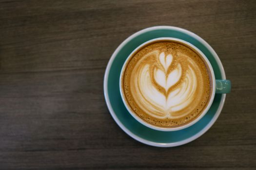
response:
[[(158, 41), (172, 41), (172, 42), (185, 44), (186, 46), (190, 47), (191, 49), (193, 49), (194, 51), (197, 51), (197, 53), (200, 54), (200, 56), (202, 57), (205, 64), (207, 65), (207, 67), (210, 70), (209, 75), (211, 76), (210, 77), (210, 79), (211, 79), (210, 82), (212, 82), (212, 90), (211, 90), (211, 97), (210, 97), (210, 100), (209, 100), (207, 106), (205, 107), (205, 109), (202, 111), (202, 113), (196, 119), (194, 119), (193, 121), (191, 121), (189, 123), (186, 123), (184, 125), (178, 126), (178, 127), (165, 128), (165, 127), (154, 126), (152, 124), (147, 123), (146, 121), (144, 121), (143, 119), (138, 117), (138, 115), (133, 111), (133, 109), (129, 107), (129, 104), (127, 103), (127, 101), (125, 100), (125, 97), (124, 97), (124, 91), (123, 91), (123, 88), (122, 88), (123, 87), (122, 77), (123, 77), (123, 74), (124, 74), (124, 70), (125, 70), (127, 64), (129, 63), (131, 57), (133, 57), (134, 53), (136, 53), (139, 49), (141, 49), (141, 48), (143, 48), (143, 47), (145, 47), (149, 44), (152, 44), (154, 42), (158, 42)], [(121, 69), (120, 78), (119, 78), (119, 89), (120, 89), (120, 94), (121, 94), (122, 101), (123, 101), (126, 109), (139, 123), (151, 128), (151, 129), (158, 130), (158, 131), (177, 131), (177, 130), (185, 129), (185, 128), (190, 127), (193, 124), (197, 123), (197, 121), (199, 121), (210, 109), (210, 107), (211, 107), (211, 105), (214, 101), (216, 93), (218, 93), (218, 94), (230, 93), (230, 91), (231, 91), (231, 82), (229, 80), (216, 79), (215, 74), (214, 74), (214, 69), (213, 69), (210, 61), (207, 59), (205, 54), (202, 51), (200, 51), (197, 47), (195, 47), (193, 44), (191, 44), (187, 41), (184, 41), (182, 39), (178, 39), (178, 38), (160, 37), (160, 38), (151, 39), (151, 40), (141, 44), (134, 51), (132, 51), (130, 53), (130, 55), (125, 60), (125, 62), (123, 64), (123, 67)]]

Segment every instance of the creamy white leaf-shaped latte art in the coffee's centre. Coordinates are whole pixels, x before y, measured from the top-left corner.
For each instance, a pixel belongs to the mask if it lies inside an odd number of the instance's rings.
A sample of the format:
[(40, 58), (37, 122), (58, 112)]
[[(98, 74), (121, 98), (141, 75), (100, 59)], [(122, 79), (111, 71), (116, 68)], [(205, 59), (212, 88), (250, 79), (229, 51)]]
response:
[[(152, 67), (153, 72), (149, 64), (140, 65), (141, 67), (133, 71), (132, 77), (135, 80), (133, 92), (139, 95), (136, 102), (146, 113), (155, 118), (182, 117), (186, 112), (173, 113), (189, 106), (196, 97), (197, 65), (187, 56), (183, 56), (189, 66), (182, 71), (181, 64), (178, 62), (176, 66), (170, 67), (173, 60), (171, 54), (155, 52), (158, 64)], [(174, 85), (176, 88), (172, 88)]]

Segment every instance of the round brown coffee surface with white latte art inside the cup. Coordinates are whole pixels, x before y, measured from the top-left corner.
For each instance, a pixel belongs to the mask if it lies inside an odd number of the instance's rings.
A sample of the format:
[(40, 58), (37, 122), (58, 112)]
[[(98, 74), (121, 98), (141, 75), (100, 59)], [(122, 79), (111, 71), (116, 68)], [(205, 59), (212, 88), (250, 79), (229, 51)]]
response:
[(121, 77), (130, 110), (158, 127), (196, 119), (211, 98), (212, 80), (204, 59), (173, 40), (147, 44), (134, 52)]

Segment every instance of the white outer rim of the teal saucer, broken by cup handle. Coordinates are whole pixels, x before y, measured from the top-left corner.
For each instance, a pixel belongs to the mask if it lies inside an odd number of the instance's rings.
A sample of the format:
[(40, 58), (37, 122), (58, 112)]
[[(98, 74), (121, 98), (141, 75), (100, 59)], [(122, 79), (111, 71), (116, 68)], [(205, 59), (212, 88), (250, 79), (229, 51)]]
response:
[(159, 143), (159, 142), (153, 142), (153, 141), (149, 141), (146, 140), (140, 136), (137, 136), (135, 134), (133, 134), (129, 129), (127, 129), (121, 121), (119, 121), (118, 117), (116, 116), (116, 113), (114, 112), (112, 105), (109, 101), (109, 95), (108, 95), (108, 76), (109, 76), (109, 71), (110, 68), (112, 66), (112, 63), (114, 61), (114, 59), (116, 58), (118, 52), (123, 48), (123, 46), (125, 46), (125, 44), (127, 44), (131, 39), (135, 38), (136, 36), (138, 36), (139, 34), (143, 34), (149, 31), (154, 31), (154, 30), (160, 30), (160, 29), (167, 29), (167, 30), (177, 30), (179, 32), (183, 32), (185, 34), (188, 34), (194, 38), (196, 38), (199, 42), (201, 42), (211, 53), (212, 55), (215, 57), (217, 65), (220, 69), (220, 73), (221, 73), (221, 77), (222, 79), (226, 79), (226, 75), (225, 75), (225, 71), (224, 68), (222, 66), (222, 63), (220, 62), (220, 59), (217, 55), (217, 53), (213, 50), (213, 48), (205, 41), (203, 40), (201, 37), (199, 37), (197, 34), (192, 33), (188, 30), (185, 30), (183, 28), (179, 28), (179, 27), (175, 27), (175, 26), (154, 26), (154, 27), (149, 27), (149, 28), (145, 28), (143, 30), (140, 30), (132, 35), (130, 35), (129, 37), (127, 37), (119, 46), (118, 48), (114, 51), (114, 53), (111, 55), (111, 58), (107, 64), (106, 70), (105, 70), (105, 74), (104, 74), (104, 81), (103, 81), (103, 91), (104, 91), (104, 98), (107, 104), (107, 107), (109, 109), (109, 112), (111, 114), (111, 116), (113, 117), (113, 119), (116, 121), (116, 123), (118, 124), (118, 126), (129, 136), (131, 136), (132, 138), (134, 138), (135, 140), (138, 140), (141, 143), (144, 143), (146, 145), (151, 145), (151, 146), (156, 146), (156, 147), (175, 147), (175, 146), (180, 146), (186, 143), (189, 143), (195, 139), (197, 139), (198, 137), (202, 136), (205, 132), (207, 132), (215, 123), (215, 121), (217, 120), (218, 116), (220, 115), (220, 112), (223, 108), (224, 102), (225, 102), (225, 98), (226, 98), (226, 94), (222, 94), (221, 95), (221, 99), (219, 102), (219, 106), (217, 108), (217, 112), (215, 113), (214, 117), (211, 119), (211, 121), (209, 121), (209, 123), (202, 128), (197, 134), (195, 134), (194, 136), (190, 136), (184, 140), (180, 140), (177, 142), (171, 142), (171, 143)]

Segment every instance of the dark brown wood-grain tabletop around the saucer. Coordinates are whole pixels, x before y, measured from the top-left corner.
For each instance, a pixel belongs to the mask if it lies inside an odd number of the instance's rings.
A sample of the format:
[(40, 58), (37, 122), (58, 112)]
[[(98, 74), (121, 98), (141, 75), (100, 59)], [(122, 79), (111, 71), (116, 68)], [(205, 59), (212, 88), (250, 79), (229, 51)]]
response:
[[(129, 35), (188, 29), (233, 83), (214, 126), (157, 148), (126, 135), (103, 96), (108, 60)], [(255, 170), (255, 0), (0, 0), (0, 170)]]

